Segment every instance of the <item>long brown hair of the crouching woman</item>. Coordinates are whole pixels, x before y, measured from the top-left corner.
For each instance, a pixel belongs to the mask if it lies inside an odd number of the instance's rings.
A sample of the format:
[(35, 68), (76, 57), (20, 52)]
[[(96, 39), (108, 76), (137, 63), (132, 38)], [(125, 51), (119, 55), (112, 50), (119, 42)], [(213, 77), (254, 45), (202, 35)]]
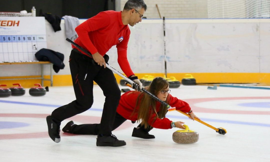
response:
[[(169, 86), (169, 83), (167, 82), (167, 80), (165, 80), (164, 78), (161, 78), (161, 77), (157, 77), (151, 82), (149, 87), (146, 87), (146, 89), (150, 93), (157, 96), (161, 90), (167, 89), (168, 86)], [(139, 99), (140, 99), (140, 103), (139, 103)], [(167, 97), (165, 102), (167, 102), (167, 103), (169, 102), (169, 96)], [(134, 114), (138, 104), (139, 104), (139, 111), (138, 111), (137, 121), (141, 122), (141, 124), (144, 125), (144, 128), (147, 128), (147, 126), (149, 125), (148, 120), (149, 120), (151, 114), (153, 114), (153, 113), (157, 114), (155, 119), (156, 118), (162, 119), (165, 117), (165, 115), (167, 113), (167, 108), (163, 104), (161, 104), (160, 110), (157, 112), (156, 100), (144, 92), (140, 93), (140, 95), (138, 96), (135, 109), (131, 115)]]

